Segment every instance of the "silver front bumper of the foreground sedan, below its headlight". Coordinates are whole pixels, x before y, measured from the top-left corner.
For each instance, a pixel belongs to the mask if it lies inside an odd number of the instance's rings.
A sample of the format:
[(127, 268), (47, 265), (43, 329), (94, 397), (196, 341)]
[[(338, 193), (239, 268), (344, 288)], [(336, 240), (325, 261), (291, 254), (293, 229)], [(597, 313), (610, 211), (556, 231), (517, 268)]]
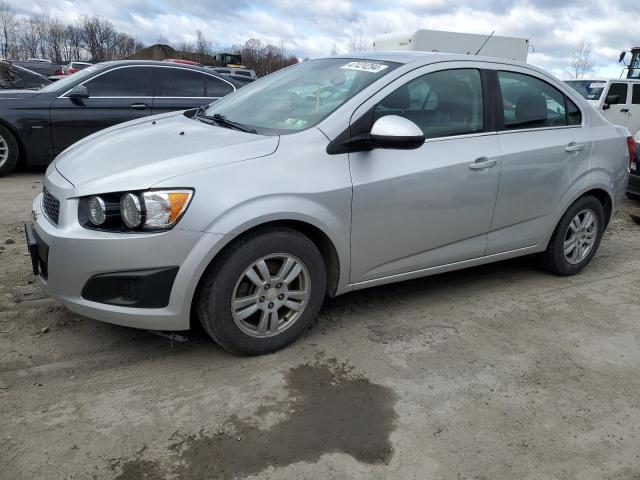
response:
[[(131, 234), (89, 230), (78, 223), (78, 200), (70, 196), (71, 192), (65, 193), (60, 189), (55, 192), (61, 202), (57, 226), (44, 215), (42, 194), (38, 195), (33, 201), (36, 220), (32, 225), (31, 240), (30, 227), (27, 227), (34, 269), (49, 294), (69, 310), (97, 320), (151, 330), (188, 329), (191, 300), (197, 283), (210, 260), (225, 243), (225, 235), (178, 228)], [(43, 258), (45, 250), (46, 258)], [(178, 271), (168, 302), (163, 302), (166, 306), (161, 308), (92, 301), (85, 298), (86, 291), (83, 296), (83, 289), (96, 276), (100, 278), (114, 272), (172, 266), (177, 266)]]

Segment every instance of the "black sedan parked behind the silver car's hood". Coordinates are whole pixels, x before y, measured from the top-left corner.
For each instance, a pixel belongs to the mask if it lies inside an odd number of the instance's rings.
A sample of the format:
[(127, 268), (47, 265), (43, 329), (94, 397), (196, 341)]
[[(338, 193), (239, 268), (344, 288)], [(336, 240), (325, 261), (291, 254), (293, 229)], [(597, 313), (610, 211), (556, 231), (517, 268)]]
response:
[(240, 86), (199, 67), (124, 60), (87, 67), (37, 91), (0, 91), (0, 175), (19, 155), (28, 165), (46, 165), (98, 130), (199, 107)]

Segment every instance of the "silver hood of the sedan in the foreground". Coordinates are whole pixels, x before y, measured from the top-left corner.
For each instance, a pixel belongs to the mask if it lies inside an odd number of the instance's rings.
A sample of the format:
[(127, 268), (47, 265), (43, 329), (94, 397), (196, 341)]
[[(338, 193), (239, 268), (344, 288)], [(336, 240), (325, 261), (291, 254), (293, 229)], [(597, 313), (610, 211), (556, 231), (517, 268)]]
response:
[(270, 155), (278, 141), (172, 112), (95, 133), (62, 152), (54, 165), (76, 196), (141, 190), (176, 175)]

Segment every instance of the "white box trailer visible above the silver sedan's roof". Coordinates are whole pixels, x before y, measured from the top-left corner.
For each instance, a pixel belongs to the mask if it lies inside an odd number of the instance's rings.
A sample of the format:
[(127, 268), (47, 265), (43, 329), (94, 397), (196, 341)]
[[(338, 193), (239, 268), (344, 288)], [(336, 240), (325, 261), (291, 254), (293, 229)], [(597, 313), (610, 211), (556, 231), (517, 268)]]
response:
[(480, 50), (478, 55), (486, 57), (506, 58), (521, 62), (527, 61), (527, 53), (529, 53), (529, 40), (527, 38), (498, 37), (495, 35), (489, 38), (489, 33), (487, 35), (478, 35), (439, 30), (389, 33), (375, 37), (373, 50), (376, 52), (414, 50), (462, 53), (464, 55), (475, 55)]

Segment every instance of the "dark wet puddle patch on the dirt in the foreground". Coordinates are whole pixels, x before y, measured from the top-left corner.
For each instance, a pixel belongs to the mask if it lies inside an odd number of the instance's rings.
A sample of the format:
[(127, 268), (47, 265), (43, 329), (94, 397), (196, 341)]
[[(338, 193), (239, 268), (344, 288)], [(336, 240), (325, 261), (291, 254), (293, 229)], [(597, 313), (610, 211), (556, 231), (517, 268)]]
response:
[[(286, 375), (290, 400), (265, 406), (260, 413), (286, 418), (266, 430), (231, 417), (220, 434), (180, 435), (170, 450), (175, 458), (167, 476), (181, 479), (235, 478), (270, 466), (317, 462), (326, 453), (345, 453), (368, 463), (388, 463), (393, 456), (389, 436), (397, 415), (396, 395), (371, 383), (352, 367), (335, 360), (300, 365)], [(116, 478), (157, 479), (159, 463), (142, 458), (119, 459)]]

